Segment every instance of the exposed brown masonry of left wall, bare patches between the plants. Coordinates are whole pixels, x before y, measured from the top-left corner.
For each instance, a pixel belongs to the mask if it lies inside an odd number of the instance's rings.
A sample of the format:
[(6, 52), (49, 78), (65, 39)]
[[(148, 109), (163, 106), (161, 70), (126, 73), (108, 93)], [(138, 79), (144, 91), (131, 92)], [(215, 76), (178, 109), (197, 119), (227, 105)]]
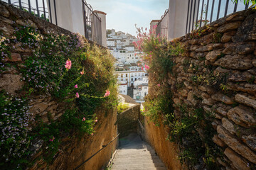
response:
[[(11, 37), (16, 26), (32, 26), (44, 34), (55, 35), (72, 35), (68, 30), (55, 26), (47, 21), (41, 20), (28, 12), (21, 11), (14, 6), (0, 1), (0, 32), (1, 35)], [(93, 42), (91, 42), (93, 43)], [(23, 48), (21, 43), (12, 44), (11, 58), (6, 57), (4, 63), (9, 63), (11, 67), (6, 67), (4, 72), (0, 72), (0, 90), (5, 90), (11, 95), (23, 96), (23, 81), (22, 74), (18, 71), (23, 69), (23, 62), (26, 57), (32, 55), (33, 49)], [(2, 66), (1, 66), (2, 67)], [(50, 120), (59, 120), (60, 116), (65, 113), (65, 103), (58, 101), (50, 96), (29, 96), (28, 106), (29, 112), (33, 118), (39, 117), (43, 123), (50, 124)], [(75, 166), (81, 164), (85, 159), (106, 145), (108, 142), (117, 136), (117, 126), (114, 123), (117, 121), (117, 111), (112, 109), (100, 108), (97, 113), (97, 124), (95, 125), (94, 135), (78, 135), (63, 137), (61, 146), (57, 154), (53, 158), (53, 164), (47, 164), (43, 159), (43, 140), (35, 140), (31, 148), (31, 157), (28, 158), (31, 167), (29, 169), (74, 169)], [(34, 123), (31, 123), (33, 128)], [(89, 162), (84, 164), (80, 169), (102, 169), (102, 166), (107, 164), (112, 152), (116, 149), (117, 140), (112, 142)]]

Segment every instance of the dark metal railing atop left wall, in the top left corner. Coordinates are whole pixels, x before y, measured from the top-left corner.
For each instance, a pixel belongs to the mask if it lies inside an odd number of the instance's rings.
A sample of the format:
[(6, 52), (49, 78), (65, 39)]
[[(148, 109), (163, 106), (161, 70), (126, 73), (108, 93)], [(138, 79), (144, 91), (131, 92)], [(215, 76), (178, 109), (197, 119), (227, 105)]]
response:
[[(27, 11), (38, 18), (53, 23), (51, 11), (55, 13), (54, 24), (58, 26), (55, 0), (1, 0), (23, 11)], [(51, 9), (52, 8), (52, 9)]]

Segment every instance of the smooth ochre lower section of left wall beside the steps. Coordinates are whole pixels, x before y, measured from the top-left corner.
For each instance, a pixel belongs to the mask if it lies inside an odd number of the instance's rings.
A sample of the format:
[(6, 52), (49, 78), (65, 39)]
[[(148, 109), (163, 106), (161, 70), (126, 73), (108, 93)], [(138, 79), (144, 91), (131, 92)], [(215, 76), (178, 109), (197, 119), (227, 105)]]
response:
[[(117, 126), (114, 123), (117, 121), (117, 111), (99, 111), (97, 113), (98, 124), (95, 127), (94, 135), (85, 135), (82, 137), (67, 136), (62, 139), (63, 145), (56, 157), (53, 159), (53, 164), (47, 164), (41, 157), (42, 152), (36, 153), (31, 162), (33, 166), (30, 170), (38, 169), (74, 169), (86, 159), (102, 149), (102, 145), (107, 145), (117, 136)], [(80, 169), (102, 169), (106, 166), (112, 153), (117, 148), (118, 139), (114, 140), (110, 145), (102, 149), (101, 152), (92, 157), (88, 162), (83, 164)], [(38, 148), (40, 149), (40, 148)]]

